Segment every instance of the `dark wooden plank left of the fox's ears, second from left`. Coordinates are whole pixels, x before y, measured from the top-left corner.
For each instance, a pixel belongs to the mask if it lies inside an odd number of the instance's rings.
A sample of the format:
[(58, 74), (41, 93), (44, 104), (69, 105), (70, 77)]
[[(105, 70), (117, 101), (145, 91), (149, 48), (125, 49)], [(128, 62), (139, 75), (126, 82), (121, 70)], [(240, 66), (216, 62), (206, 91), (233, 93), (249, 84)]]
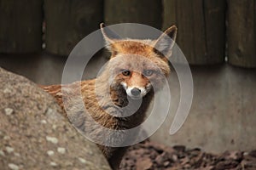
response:
[(103, 20), (103, 0), (45, 0), (46, 50), (68, 55)]

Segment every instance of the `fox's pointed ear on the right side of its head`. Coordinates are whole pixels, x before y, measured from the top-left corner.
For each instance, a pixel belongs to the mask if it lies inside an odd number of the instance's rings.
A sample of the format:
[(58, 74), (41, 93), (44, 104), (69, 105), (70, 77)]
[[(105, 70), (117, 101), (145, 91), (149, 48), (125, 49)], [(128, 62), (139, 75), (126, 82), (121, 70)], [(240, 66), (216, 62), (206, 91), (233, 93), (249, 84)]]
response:
[(175, 44), (176, 35), (176, 26), (171, 26), (170, 28), (166, 29), (166, 31), (160, 35), (160, 37), (154, 43), (154, 50), (156, 53), (169, 57), (172, 54), (172, 47)]

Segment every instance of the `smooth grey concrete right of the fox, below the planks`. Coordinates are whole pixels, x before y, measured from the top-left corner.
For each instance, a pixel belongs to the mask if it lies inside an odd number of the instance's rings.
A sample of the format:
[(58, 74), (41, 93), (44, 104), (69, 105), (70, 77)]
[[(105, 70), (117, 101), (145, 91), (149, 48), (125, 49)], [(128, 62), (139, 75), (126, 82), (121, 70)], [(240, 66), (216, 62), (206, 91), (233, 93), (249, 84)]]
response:
[(221, 153), (256, 149), (256, 70), (231, 65), (191, 66), (194, 99), (183, 127), (169, 134), (179, 102), (179, 82), (169, 78), (172, 108), (166, 122), (151, 138), (162, 144)]

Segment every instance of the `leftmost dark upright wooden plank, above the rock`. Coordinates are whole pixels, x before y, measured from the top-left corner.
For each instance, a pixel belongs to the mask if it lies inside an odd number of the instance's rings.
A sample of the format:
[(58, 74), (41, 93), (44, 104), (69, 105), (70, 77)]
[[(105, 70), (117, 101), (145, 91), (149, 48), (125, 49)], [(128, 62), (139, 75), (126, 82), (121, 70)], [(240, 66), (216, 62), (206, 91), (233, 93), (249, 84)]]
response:
[(0, 53), (41, 51), (43, 0), (0, 0)]

